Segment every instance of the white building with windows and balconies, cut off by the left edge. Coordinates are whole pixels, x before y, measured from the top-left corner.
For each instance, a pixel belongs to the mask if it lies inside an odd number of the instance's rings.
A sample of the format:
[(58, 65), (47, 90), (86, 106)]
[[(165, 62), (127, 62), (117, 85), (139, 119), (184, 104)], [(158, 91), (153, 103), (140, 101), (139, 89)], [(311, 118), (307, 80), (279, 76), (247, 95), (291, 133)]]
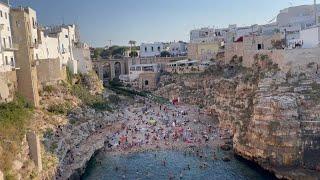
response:
[(18, 47), (12, 43), (9, 13), (10, 7), (0, 1), (0, 72), (12, 71), (15, 68), (14, 51)]

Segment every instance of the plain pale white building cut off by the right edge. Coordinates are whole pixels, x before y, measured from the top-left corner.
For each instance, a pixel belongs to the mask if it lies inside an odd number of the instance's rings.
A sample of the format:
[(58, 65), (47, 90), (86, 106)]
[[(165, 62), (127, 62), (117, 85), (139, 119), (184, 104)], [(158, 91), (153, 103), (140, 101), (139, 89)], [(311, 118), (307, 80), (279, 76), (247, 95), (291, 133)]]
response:
[(319, 47), (320, 43), (320, 26), (313, 26), (300, 32), (302, 48)]

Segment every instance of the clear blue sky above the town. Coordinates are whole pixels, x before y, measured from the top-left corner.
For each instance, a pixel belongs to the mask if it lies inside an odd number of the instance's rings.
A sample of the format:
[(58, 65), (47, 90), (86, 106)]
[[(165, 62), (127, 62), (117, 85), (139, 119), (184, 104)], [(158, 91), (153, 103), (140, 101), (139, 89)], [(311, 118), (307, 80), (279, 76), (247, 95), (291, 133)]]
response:
[(189, 41), (201, 27), (266, 24), (289, 6), (313, 0), (10, 0), (30, 6), (41, 25), (80, 27), (81, 40), (93, 47), (144, 42)]

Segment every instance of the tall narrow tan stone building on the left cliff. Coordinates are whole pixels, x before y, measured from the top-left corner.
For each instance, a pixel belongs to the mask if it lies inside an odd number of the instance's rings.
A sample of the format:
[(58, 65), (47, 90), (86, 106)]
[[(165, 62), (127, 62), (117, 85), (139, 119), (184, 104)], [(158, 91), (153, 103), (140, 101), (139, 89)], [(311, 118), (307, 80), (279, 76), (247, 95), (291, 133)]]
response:
[(11, 9), (13, 42), (19, 45), (15, 51), (18, 92), (35, 107), (39, 106), (38, 77), (35, 61), (35, 48), (39, 44), (36, 12), (29, 8)]

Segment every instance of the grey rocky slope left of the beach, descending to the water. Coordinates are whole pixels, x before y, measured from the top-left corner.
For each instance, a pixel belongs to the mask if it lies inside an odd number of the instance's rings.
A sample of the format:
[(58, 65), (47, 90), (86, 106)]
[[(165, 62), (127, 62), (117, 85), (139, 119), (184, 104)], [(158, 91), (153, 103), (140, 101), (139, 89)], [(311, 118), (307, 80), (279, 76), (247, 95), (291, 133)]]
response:
[(104, 147), (108, 124), (119, 120), (115, 113), (89, 108), (78, 108), (68, 118), (72, 125), (60, 127), (44, 141), (47, 151), (59, 159), (56, 179), (79, 179), (87, 162)]

